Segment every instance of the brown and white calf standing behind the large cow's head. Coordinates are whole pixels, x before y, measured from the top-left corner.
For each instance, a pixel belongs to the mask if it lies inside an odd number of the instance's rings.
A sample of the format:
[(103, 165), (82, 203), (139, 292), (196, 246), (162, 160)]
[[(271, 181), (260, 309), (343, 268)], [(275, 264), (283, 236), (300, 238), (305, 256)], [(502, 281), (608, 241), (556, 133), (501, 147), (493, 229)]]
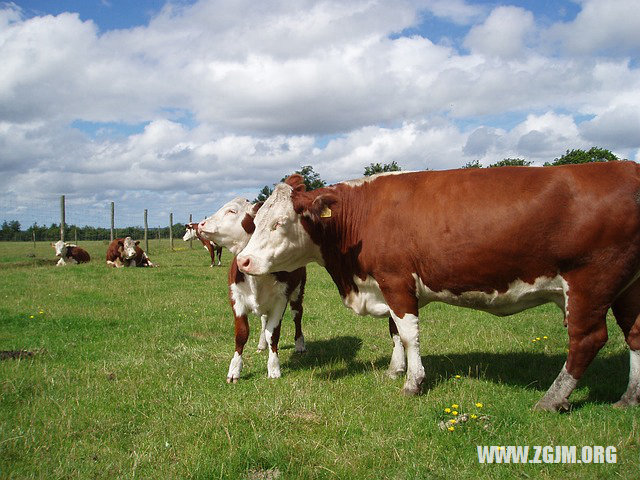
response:
[[(200, 235), (218, 245), (223, 245), (237, 255), (244, 248), (254, 230), (253, 217), (261, 204), (252, 205), (245, 198), (235, 198), (211, 217), (200, 222)], [(229, 365), (227, 382), (237, 382), (242, 370), (242, 352), (249, 338), (247, 315), (260, 316), (262, 332), (258, 349), (269, 346), (267, 372), (269, 378), (280, 377), (278, 341), (282, 316), (291, 305), (296, 327), (295, 349), (304, 352), (302, 334), (302, 298), (307, 278), (306, 268), (293, 272), (274, 272), (260, 276), (245, 275), (238, 270), (235, 257), (229, 268), (229, 298), (235, 319), (236, 351)]]

